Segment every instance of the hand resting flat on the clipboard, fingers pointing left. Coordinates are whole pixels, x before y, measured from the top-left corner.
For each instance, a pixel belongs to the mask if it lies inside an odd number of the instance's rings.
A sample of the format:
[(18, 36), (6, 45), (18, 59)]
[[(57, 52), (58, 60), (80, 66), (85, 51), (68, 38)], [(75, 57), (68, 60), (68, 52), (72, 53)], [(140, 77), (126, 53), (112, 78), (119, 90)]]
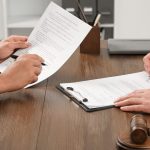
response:
[(123, 111), (150, 113), (150, 89), (137, 90), (115, 102)]

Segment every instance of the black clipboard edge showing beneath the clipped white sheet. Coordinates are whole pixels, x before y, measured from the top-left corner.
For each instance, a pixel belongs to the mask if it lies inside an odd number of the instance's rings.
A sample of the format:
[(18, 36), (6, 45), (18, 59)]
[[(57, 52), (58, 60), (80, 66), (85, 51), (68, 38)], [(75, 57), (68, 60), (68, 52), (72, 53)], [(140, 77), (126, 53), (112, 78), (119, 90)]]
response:
[(72, 96), (70, 93), (68, 93), (63, 87), (60, 85), (56, 86), (56, 88), (61, 91), (64, 95), (70, 98), (73, 102), (75, 102), (78, 106), (80, 106), (83, 110), (86, 112), (94, 112), (94, 111), (99, 111), (99, 110), (104, 110), (104, 109), (109, 109), (109, 108), (115, 108), (114, 105), (109, 105), (109, 106), (103, 106), (103, 107), (97, 107), (97, 108), (89, 108), (87, 107), (84, 103), (80, 102), (77, 100), (74, 96)]

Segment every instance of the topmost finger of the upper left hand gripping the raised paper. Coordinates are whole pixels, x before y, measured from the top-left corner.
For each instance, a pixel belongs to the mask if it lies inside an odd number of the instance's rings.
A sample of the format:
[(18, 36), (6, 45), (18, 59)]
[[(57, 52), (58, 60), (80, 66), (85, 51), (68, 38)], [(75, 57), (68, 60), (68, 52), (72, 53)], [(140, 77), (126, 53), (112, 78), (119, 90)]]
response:
[(27, 36), (17, 36), (17, 35), (12, 35), (8, 37), (5, 41), (8, 42), (26, 42), (28, 40)]

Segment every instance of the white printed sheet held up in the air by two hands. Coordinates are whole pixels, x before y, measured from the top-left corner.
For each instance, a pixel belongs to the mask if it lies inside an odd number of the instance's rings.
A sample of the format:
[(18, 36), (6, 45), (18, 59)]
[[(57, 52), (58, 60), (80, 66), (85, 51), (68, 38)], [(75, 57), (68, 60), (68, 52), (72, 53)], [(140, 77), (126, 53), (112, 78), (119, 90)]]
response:
[[(46, 66), (42, 67), (39, 79), (34, 83), (37, 84), (58, 71), (90, 30), (91, 26), (51, 2), (29, 36), (31, 48), (19, 50), (15, 55), (37, 54), (45, 60)], [(0, 64), (0, 72), (14, 61), (9, 58)]]

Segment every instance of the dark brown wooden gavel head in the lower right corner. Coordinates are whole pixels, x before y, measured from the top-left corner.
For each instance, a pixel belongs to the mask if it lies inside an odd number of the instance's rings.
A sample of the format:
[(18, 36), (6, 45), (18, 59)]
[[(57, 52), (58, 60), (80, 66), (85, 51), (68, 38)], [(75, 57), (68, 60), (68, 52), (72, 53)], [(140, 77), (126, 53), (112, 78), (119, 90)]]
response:
[(135, 144), (143, 144), (147, 140), (147, 122), (142, 115), (132, 117), (130, 138)]

